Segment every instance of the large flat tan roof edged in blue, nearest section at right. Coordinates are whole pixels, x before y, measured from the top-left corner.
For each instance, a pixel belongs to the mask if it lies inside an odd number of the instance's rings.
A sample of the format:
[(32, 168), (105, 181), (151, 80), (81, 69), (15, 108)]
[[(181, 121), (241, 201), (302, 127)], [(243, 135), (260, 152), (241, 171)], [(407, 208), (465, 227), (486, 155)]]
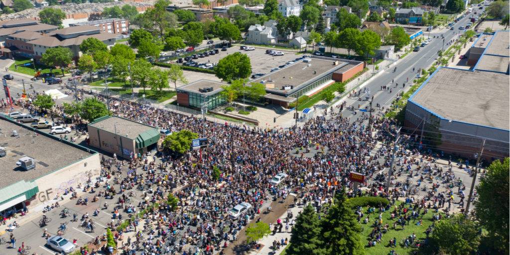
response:
[(510, 129), (508, 75), (441, 68), (410, 98), (445, 119)]

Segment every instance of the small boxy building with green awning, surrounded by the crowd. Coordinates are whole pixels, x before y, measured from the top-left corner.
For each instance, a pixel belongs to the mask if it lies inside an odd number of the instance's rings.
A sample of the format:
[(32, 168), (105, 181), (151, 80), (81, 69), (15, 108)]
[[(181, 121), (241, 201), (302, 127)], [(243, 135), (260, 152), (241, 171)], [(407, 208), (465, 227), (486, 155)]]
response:
[(130, 119), (104, 116), (88, 124), (89, 144), (122, 158), (137, 158), (156, 147), (159, 130)]

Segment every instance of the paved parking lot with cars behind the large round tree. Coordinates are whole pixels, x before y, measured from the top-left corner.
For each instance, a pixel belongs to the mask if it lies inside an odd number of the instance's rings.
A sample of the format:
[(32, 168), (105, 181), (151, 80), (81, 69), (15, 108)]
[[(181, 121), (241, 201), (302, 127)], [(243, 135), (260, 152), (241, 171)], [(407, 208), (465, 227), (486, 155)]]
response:
[[(219, 54), (214, 56), (209, 56), (205, 58), (195, 59), (194, 61), (198, 63), (218, 63), (218, 61), (224, 58), (228, 54), (234, 54), (236, 52), (240, 52), (248, 55), (251, 61), (251, 73), (268, 73), (272, 68), (278, 67), (279, 65), (283, 65), (291, 60), (301, 57), (300, 55), (296, 55), (294, 52), (286, 52), (285, 50), (275, 49), (280, 52), (283, 52), (284, 56), (270, 56), (266, 54), (265, 49), (256, 48), (255, 50), (245, 51), (239, 48), (239, 46), (232, 46), (226, 50), (226, 52), (222, 52), (220, 50)], [(190, 80), (188, 80), (190, 81)]]

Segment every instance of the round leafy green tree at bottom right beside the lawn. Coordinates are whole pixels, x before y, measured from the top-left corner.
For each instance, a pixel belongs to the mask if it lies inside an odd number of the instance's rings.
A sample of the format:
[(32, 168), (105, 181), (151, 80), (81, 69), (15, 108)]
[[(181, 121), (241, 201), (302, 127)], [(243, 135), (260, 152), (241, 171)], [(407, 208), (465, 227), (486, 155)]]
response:
[(456, 214), (436, 223), (430, 243), (436, 254), (470, 254), (480, 243), (480, 228), (464, 214)]

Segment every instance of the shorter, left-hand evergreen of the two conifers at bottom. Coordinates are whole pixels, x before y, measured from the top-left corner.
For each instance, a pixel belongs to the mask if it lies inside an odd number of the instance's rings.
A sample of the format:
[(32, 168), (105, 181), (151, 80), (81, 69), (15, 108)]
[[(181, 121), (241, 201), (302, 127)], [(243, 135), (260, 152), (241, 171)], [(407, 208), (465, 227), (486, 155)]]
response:
[(292, 227), (291, 245), (287, 248), (287, 254), (325, 254), (320, 232), (319, 216), (309, 203), (297, 216), (296, 224)]

